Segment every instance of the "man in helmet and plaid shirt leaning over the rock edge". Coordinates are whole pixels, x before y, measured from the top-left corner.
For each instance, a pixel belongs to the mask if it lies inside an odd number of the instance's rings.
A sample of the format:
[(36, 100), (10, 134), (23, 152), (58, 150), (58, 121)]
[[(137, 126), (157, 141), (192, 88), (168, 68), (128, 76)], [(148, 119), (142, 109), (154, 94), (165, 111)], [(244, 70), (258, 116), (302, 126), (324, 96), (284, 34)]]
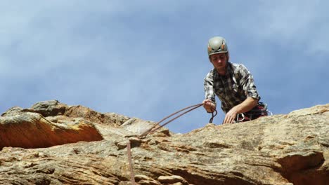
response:
[(209, 39), (208, 56), (214, 69), (205, 77), (205, 100), (202, 103), (206, 111), (211, 113), (216, 109), (217, 95), (226, 114), (224, 124), (267, 116), (266, 104), (259, 102), (250, 71), (243, 64), (228, 62), (228, 46), (223, 37)]

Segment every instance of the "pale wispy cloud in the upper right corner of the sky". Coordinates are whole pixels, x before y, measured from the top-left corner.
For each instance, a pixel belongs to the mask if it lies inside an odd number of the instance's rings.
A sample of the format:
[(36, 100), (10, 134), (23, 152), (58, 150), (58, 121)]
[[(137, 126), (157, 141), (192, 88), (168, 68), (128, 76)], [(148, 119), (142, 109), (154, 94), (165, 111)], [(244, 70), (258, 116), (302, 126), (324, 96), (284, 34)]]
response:
[(234, 25), (252, 38), (269, 40), (289, 49), (304, 50), (309, 55), (329, 52), (327, 1), (262, 1), (256, 11), (243, 11), (248, 18), (237, 16)]

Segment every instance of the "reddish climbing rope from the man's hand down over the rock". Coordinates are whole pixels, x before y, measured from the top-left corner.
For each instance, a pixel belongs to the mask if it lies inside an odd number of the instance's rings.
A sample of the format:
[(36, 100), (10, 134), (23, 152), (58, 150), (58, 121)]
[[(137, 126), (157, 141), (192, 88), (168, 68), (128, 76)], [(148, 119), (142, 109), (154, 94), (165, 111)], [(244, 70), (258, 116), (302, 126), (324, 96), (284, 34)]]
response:
[[(143, 139), (146, 137), (146, 135), (155, 132), (156, 130), (159, 130), (160, 128), (164, 127), (164, 125), (167, 125), (168, 123), (174, 121), (176, 118), (179, 118), (180, 116), (183, 116), (184, 114), (187, 114), (190, 111), (193, 111), (194, 109), (198, 109), (199, 107), (201, 107), (203, 104), (195, 104), (192, 105), (190, 107), (186, 107), (184, 109), (181, 109), (179, 111), (174, 112), (173, 114), (170, 114), (169, 116), (163, 118), (161, 121), (157, 122), (155, 125), (153, 125), (153, 127), (151, 127), (150, 129), (146, 130), (146, 132), (143, 132), (141, 135), (137, 136), (138, 139)], [(179, 114), (181, 111), (184, 111), (183, 113)], [(163, 121), (167, 120), (167, 118), (170, 118), (176, 114), (179, 114), (178, 116), (172, 118), (171, 120), (167, 121), (166, 123), (163, 123), (162, 125), (160, 125), (160, 123), (162, 123)], [(209, 123), (212, 123), (214, 117), (217, 116), (217, 110), (214, 109), (214, 111), (212, 112), (212, 118), (210, 118)], [(132, 184), (136, 184), (135, 181), (135, 174), (134, 174), (134, 169), (133, 169), (133, 164), (132, 164), (132, 160), (131, 160), (131, 143), (130, 140), (128, 140), (127, 142), (127, 156), (128, 156), (128, 161), (129, 161), (129, 170), (130, 170), (130, 178), (131, 178), (131, 183)]]

